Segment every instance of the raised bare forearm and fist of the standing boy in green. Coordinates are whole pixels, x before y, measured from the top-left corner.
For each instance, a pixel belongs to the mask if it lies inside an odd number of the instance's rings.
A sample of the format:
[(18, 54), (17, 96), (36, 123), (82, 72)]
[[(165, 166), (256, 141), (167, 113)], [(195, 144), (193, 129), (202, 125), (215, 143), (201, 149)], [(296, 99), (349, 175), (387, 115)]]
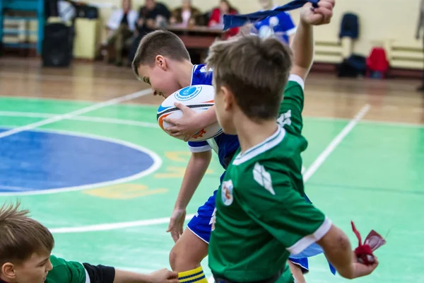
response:
[(312, 25), (324, 25), (333, 16), (335, 0), (321, 0), (318, 8), (311, 3), (305, 4), (300, 11), (300, 23), (291, 48), (293, 50), (293, 69), (291, 74), (300, 76), (304, 81), (309, 74), (314, 59), (314, 33)]

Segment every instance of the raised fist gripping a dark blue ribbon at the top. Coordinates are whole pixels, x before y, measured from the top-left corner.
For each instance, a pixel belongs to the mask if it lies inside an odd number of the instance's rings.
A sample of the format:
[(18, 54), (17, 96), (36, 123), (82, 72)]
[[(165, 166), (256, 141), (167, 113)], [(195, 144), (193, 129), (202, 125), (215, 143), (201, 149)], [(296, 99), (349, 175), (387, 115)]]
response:
[(334, 5), (335, 0), (321, 0), (318, 2), (318, 8), (314, 8), (308, 2), (300, 11), (300, 21), (310, 25), (325, 25), (330, 23)]

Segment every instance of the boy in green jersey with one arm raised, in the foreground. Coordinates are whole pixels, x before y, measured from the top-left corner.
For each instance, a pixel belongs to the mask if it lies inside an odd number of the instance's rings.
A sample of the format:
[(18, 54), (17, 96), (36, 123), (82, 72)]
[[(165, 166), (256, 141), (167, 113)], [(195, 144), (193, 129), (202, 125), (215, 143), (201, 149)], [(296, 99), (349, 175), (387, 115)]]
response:
[[(319, 5), (302, 9), (295, 36), (327, 21), (334, 1)], [(216, 193), (208, 261), (218, 283), (293, 282), (285, 262), (314, 243), (342, 277), (369, 275), (378, 265), (359, 263), (346, 234), (305, 201), (300, 129), (309, 69), (292, 68), (291, 60), (283, 43), (256, 35), (209, 50), (218, 122), (240, 141)]]

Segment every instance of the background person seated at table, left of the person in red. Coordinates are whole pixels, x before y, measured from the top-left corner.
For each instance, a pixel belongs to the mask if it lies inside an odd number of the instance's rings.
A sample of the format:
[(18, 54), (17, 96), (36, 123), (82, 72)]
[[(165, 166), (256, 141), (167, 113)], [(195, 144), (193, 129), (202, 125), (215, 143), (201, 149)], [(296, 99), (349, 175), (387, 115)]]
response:
[(201, 12), (192, 6), (191, 0), (182, 0), (182, 6), (172, 11), (170, 18), (171, 25), (182, 27), (201, 25), (199, 21), (201, 21)]

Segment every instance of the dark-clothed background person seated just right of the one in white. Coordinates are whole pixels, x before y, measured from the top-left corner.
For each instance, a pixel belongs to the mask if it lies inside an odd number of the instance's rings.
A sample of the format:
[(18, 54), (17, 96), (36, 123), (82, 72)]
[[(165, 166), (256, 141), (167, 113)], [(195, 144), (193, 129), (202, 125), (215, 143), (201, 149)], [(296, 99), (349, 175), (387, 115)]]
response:
[(139, 19), (136, 23), (136, 37), (131, 43), (131, 50), (128, 54), (129, 66), (134, 59), (137, 47), (144, 35), (151, 33), (158, 28), (165, 28), (170, 20), (171, 12), (165, 4), (155, 0), (145, 0), (144, 6), (140, 8)]

